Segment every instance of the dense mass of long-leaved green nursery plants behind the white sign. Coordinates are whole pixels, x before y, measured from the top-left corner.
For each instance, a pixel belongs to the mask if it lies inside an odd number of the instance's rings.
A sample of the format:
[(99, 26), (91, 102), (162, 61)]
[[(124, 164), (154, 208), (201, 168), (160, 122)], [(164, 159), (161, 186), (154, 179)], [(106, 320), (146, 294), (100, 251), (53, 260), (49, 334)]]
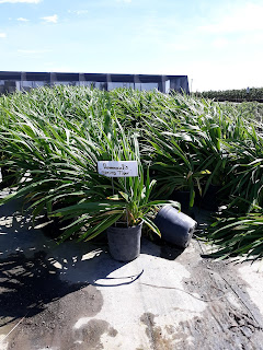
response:
[[(56, 86), (1, 96), (1, 187), (11, 192), (0, 203), (23, 199), (33, 223), (59, 226), (58, 242), (95, 238), (119, 221), (144, 222), (155, 237), (161, 207), (203, 208), (211, 223), (199, 240), (213, 243), (213, 256), (262, 258), (262, 118), (253, 103), (158, 91)], [(98, 162), (112, 160), (137, 161), (138, 177), (99, 175)]]

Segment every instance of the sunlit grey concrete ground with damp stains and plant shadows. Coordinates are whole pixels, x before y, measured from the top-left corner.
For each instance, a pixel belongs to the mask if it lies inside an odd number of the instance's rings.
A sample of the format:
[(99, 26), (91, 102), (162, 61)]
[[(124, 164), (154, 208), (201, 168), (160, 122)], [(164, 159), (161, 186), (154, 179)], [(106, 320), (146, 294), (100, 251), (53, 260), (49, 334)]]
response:
[(122, 264), (105, 245), (57, 246), (19, 208), (0, 207), (1, 350), (263, 349), (260, 262), (142, 238)]

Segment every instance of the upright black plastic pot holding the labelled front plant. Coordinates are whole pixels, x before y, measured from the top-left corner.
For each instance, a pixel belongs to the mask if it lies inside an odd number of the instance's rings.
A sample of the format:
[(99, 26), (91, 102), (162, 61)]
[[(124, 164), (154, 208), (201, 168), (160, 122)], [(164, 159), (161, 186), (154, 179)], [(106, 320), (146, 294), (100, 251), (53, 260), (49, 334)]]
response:
[(132, 261), (140, 254), (140, 223), (132, 228), (115, 228), (107, 229), (107, 242), (112, 257), (118, 261)]

